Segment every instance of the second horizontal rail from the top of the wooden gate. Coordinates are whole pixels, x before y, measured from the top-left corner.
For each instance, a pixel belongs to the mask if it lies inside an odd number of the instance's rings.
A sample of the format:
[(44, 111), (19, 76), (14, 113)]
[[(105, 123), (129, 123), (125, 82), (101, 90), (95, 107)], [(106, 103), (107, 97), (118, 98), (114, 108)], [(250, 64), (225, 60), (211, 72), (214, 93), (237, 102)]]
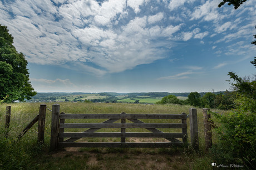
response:
[(60, 123), (60, 128), (187, 128), (185, 123)]

